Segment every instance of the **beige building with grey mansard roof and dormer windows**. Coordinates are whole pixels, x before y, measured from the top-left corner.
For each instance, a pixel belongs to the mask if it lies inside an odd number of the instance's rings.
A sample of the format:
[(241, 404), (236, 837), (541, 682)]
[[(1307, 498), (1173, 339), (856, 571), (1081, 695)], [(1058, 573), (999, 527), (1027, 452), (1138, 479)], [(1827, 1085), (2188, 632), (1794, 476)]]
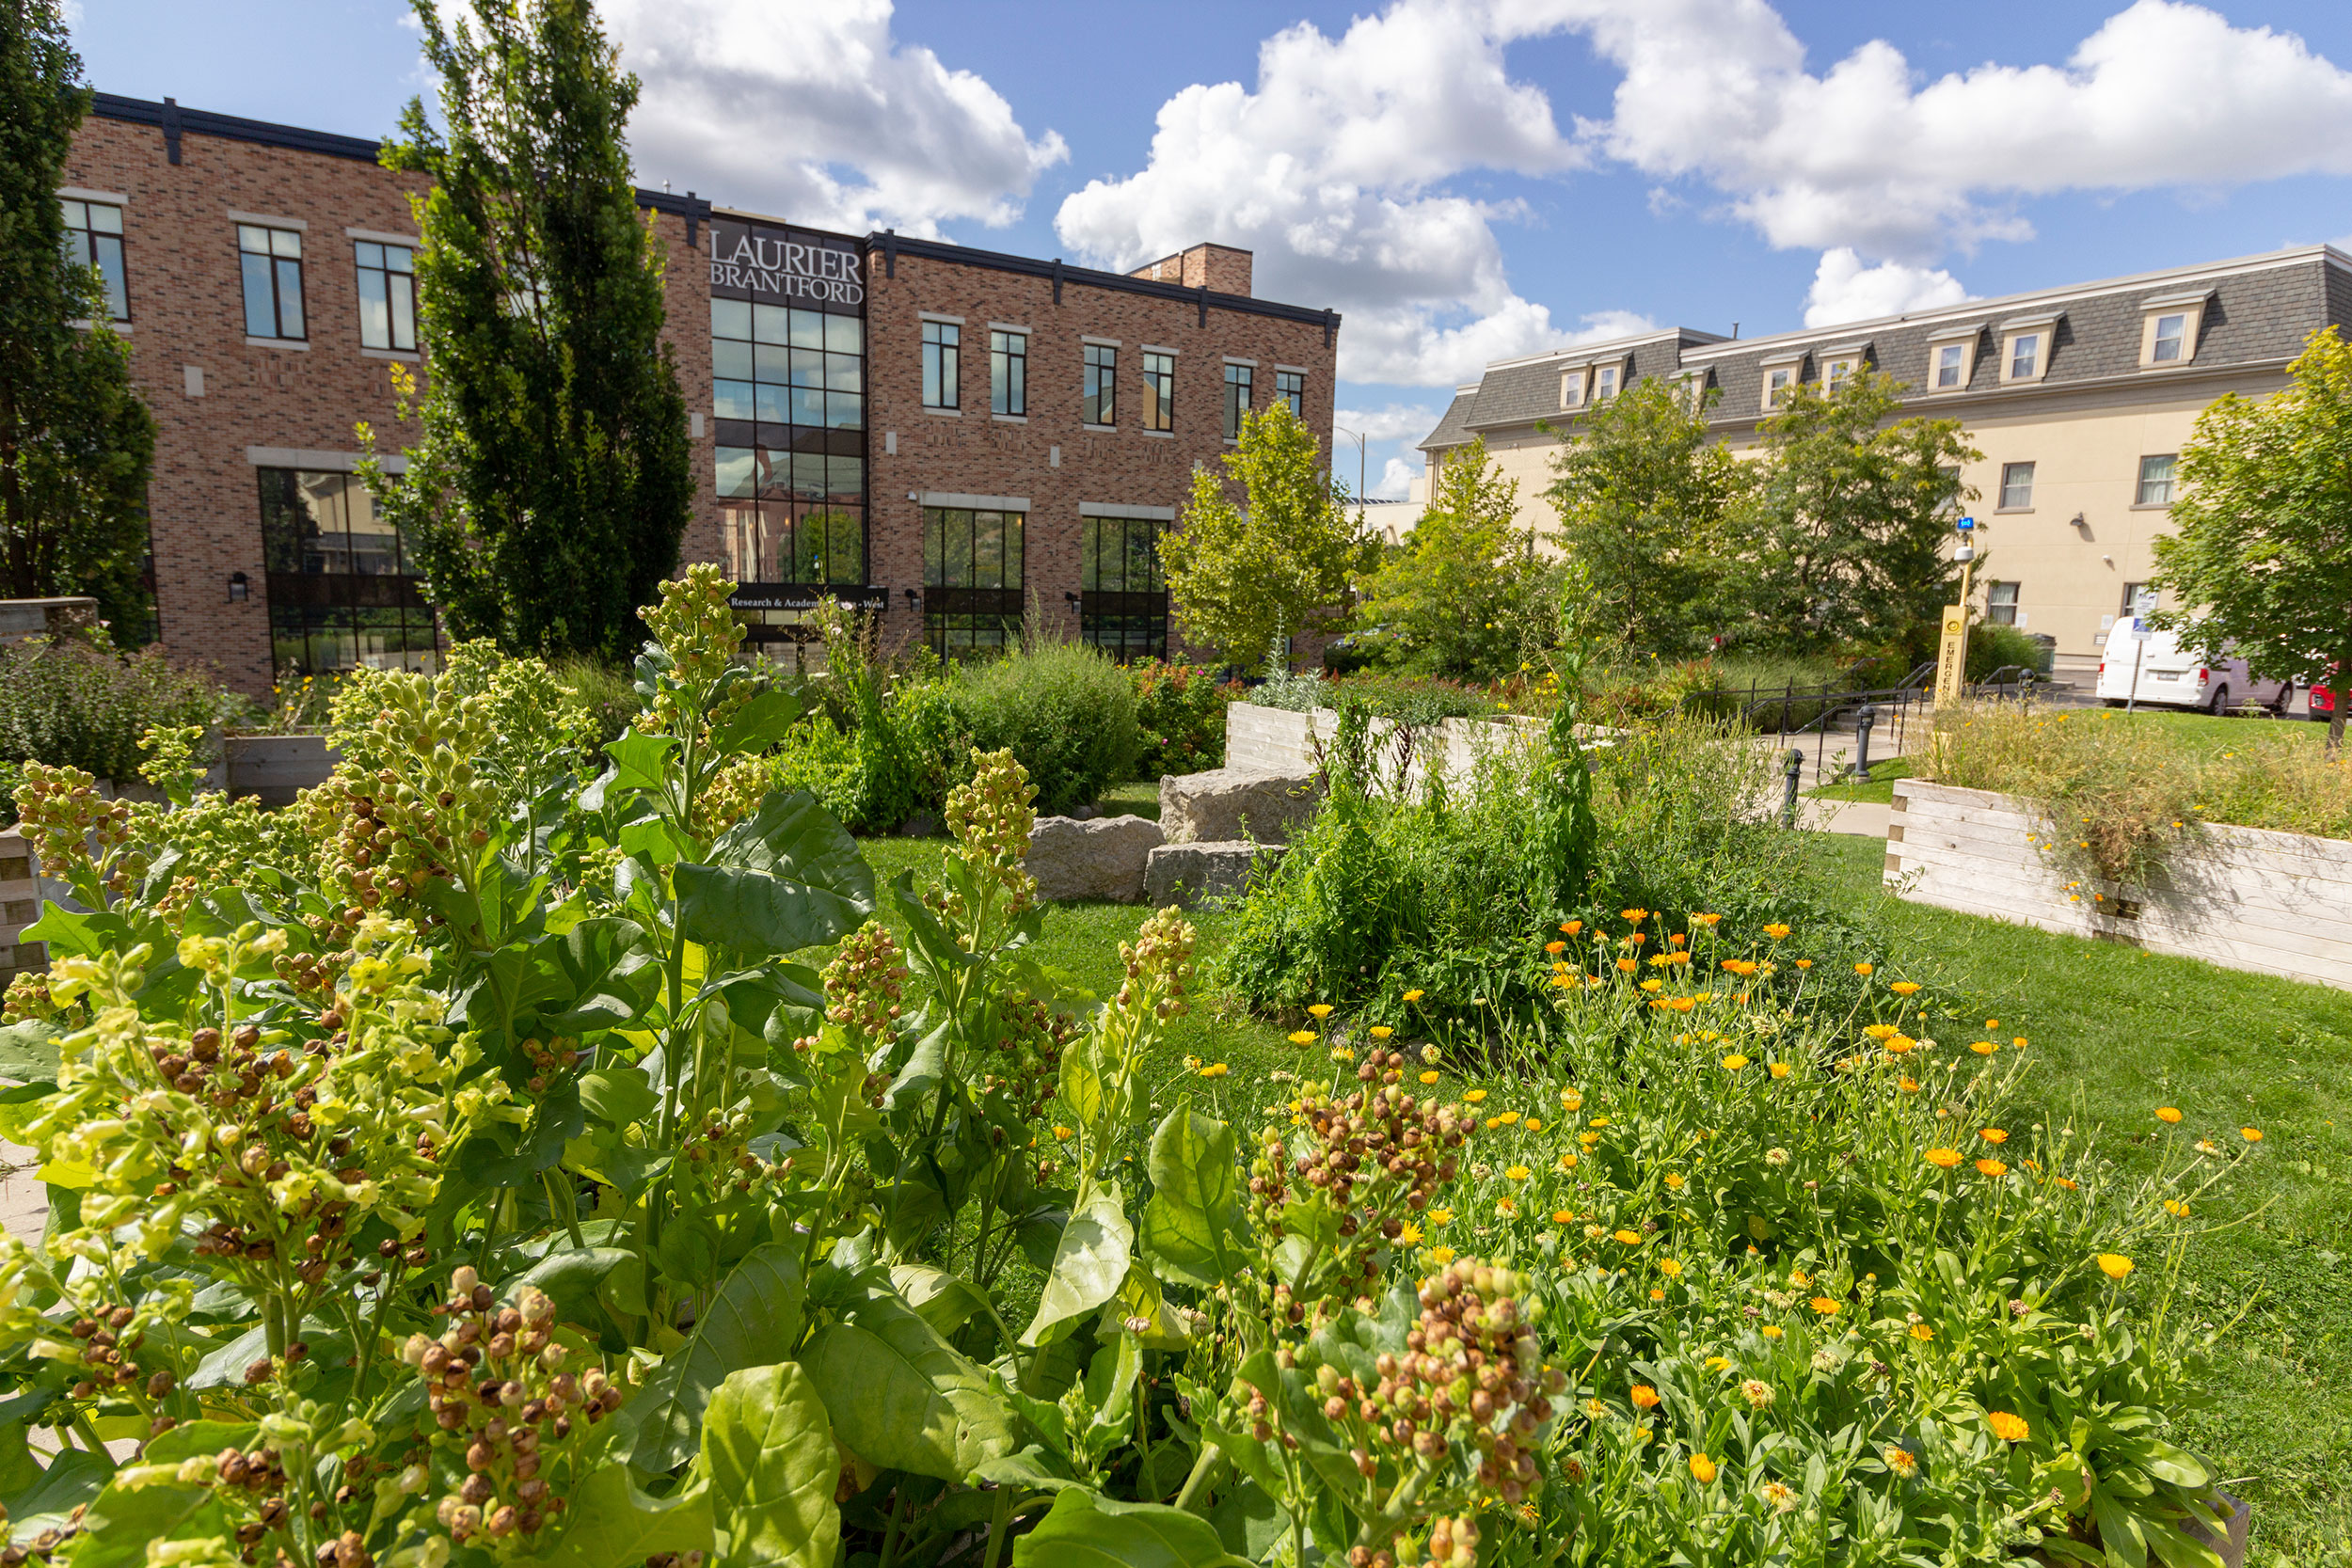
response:
[(1416, 494), (1446, 451), (1484, 437), (1519, 482), (1522, 527), (1548, 531), (1550, 454), (1618, 388), (1644, 376), (1705, 388), (1722, 440), (1752, 451), (1785, 388), (1835, 390), (1867, 364), (1910, 386), (1905, 411), (1964, 421), (1985, 454), (1964, 473), (1978, 611), (2089, 663), (2154, 569), (2150, 541), (2169, 524), (2197, 414), (2223, 393), (2286, 386), (2286, 364), (2328, 324), (2352, 334), (2352, 256), (2310, 244), (1769, 339), (1677, 327), (1583, 343), (1498, 360), (1458, 388), (1421, 442), (1430, 473)]

